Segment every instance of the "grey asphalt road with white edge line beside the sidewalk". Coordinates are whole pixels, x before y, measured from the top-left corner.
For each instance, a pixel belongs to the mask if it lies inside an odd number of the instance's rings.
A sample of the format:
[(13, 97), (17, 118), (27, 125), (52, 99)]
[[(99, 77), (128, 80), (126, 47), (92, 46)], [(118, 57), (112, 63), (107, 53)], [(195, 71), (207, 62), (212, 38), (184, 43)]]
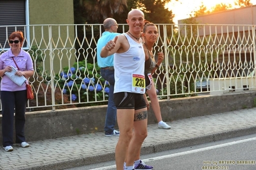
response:
[[(256, 134), (142, 155), (153, 170), (256, 169)], [(67, 170), (114, 170), (115, 162), (103, 162)]]

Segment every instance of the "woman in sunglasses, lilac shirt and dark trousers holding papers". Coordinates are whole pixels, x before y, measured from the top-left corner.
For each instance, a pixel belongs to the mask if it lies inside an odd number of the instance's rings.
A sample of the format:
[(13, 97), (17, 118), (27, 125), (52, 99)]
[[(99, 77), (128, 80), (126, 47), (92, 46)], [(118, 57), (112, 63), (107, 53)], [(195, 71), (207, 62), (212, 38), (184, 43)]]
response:
[[(15, 141), (23, 148), (30, 146), (24, 136), (25, 111), (27, 99), (26, 83), (16, 84), (5, 72), (17, 69), (15, 75), (26, 78), (34, 73), (33, 61), (28, 52), (21, 49), (24, 37), (21, 31), (13, 32), (9, 38), (10, 49), (0, 56), (1, 102), (2, 102), (2, 135), (5, 151), (13, 150), (13, 113), (15, 109)], [(21, 85), (21, 86), (20, 86)]]

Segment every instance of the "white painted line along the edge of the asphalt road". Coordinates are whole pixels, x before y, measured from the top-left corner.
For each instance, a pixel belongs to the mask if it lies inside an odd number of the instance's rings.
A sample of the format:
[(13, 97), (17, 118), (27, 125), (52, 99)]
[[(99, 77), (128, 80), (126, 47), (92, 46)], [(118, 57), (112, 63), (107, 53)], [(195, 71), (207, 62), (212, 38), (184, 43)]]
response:
[[(214, 150), (216, 148), (223, 148), (225, 146), (232, 146), (234, 144), (247, 143), (247, 142), (255, 141), (255, 140), (256, 140), (256, 137), (253, 137), (253, 138), (249, 138), (249, 139), (243, 139), (243, 140), (240, 140), (240, 141), (234, 141), (234, 142), (231, 142), (231, 143), (218, 144), (218, 145), (209, 146), (209, 147), (205, 147), (205, 148), (200, 148), (200, 149), (196, 149), (196, 150), (183, 151), (183, 152), (180, 152), (180, 153), (173, 153), (171, 155), (164, 155), (164, 156), (160, 156), (160, 157), (147, 158), (147, 159), (143, 159), (143, 162), (146, 163), (146, 162), (150, 162), (150, 161), (154, 161), (154, 160), (161, 160), (161, 159), (164, 159), (164, 158), (179, 157), (181, 155), (188, 155), (188, 154), (191, 154), (191, 153), (198, 153), (200, 151)], [(114, 166), (99, 167), (99, 168), (90, 169), (90, 170), (108, 170), (108, 169), (114, 169), (114, 168), (115, 168), (115, 165)]]

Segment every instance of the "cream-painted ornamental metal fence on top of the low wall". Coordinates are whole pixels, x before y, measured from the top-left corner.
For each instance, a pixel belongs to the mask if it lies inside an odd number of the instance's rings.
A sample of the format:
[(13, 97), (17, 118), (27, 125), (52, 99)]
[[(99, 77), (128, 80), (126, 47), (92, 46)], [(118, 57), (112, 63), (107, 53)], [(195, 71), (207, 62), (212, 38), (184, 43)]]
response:
[[(255, 26), (157, 24), (154, 47), (165, 54), (155, 72), (158, 97), (178, 98), (254, 90)], [(31, 111), (106, 104), (108, 82), (96, 58), (99, 24), (0, 26), (0, 52), (12, 31), (24, 31), (24, 50), (34, 59)], [(128, 30), (119, 24), (119, 33)], [(157, 56), (155, 56), (157, 59)]]

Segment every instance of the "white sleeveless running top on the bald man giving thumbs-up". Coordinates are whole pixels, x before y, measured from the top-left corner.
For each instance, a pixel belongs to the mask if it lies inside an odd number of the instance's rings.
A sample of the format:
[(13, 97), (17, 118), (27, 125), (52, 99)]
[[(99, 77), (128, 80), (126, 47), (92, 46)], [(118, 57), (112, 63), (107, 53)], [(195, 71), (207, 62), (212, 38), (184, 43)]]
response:
[(145, 54), (142, 43), (126, 36), (130, 48), (123, 53), (114, 54), (115, 86), (114, 93), (145, 93), (144, 63)]

